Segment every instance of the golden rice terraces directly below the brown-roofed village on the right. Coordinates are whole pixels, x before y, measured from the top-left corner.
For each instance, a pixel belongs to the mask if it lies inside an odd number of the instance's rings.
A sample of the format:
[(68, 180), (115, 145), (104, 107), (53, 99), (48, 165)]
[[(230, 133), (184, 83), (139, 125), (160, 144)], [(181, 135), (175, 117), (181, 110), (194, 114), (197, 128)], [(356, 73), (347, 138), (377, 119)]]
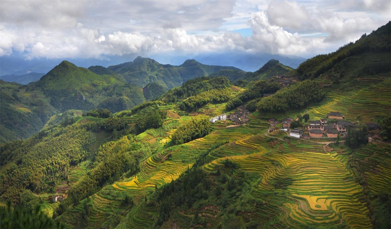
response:
[[(297, 142), (284, 143), (275, 150), (267, 149), (265, 144), (261, 146), (262, 138), (248, 138), (243, 141), (246, 144), (237, 142), (240, 149), (232, 151), (260, 151), (216, 159), (205, 165), (204, 170), (212, 172), (228, 158), (239, 164), (241, 170), (260, 174), (260, 183), (252, 195), (263, 201), (267, 201), (265, 193), (282, 191), (278, 187), (286, 186), (283, 192), (290, 201), (281, 206), (286, 212), (280, 216), (283, 224), (302, 228), (346, 222), (350, 228), (372, 227), (366, 203), (361, 201), (362, 187), (346, 170), (346, 156), (339, 156), (337, 152), (326, 153), (319, 145)], [(276, 182), (279, 186), (275, 185)]]

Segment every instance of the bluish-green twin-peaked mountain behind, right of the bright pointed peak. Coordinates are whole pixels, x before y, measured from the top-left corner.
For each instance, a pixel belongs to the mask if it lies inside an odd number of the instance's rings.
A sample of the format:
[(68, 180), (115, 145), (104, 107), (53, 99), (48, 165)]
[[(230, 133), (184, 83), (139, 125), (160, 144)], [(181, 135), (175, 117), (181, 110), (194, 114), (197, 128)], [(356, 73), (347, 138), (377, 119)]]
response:
[(137, 57), (133, 62), (109, 66), (109, 70), (123, 76), (127, 82), (140, 87), (148, 83), (158, 82), (165, 89), (178, 87), (181, 83), (195, 77), (207, 76), (223, 69), (240, 70), (236, 67), (210, 66), (195, 60), (186, 60), (179, 66), (159, 64), (155, 60)]

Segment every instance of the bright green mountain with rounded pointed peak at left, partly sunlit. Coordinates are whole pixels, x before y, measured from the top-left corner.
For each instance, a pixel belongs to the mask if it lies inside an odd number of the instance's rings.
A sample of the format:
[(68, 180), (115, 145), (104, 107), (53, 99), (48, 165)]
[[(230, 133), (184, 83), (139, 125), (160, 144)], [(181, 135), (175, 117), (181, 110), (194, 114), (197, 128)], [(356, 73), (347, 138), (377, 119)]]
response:
[(145, 101), (141, 89), (122, 77), (98, 75), (68, 61), (54, 67), (36, 85), (59, 111), (108, 108), (117, 112)]

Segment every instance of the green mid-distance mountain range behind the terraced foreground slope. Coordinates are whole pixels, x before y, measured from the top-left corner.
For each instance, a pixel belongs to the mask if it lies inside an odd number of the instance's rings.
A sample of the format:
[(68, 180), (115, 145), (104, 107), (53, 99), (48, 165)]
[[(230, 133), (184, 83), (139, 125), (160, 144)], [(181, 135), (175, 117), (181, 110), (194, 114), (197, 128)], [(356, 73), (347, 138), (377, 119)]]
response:
[[(275, 71), (269, 73), (271, 76)], [(64, 60), (29, 85), (2, 82), (1, 138), (29, 137), (57, 112), (93, 108), (117, 112), (157, 98), (196, 77), (223, 75), (236, 81), (248, 74), (235, 67), (209, 66), (195, 60), (173, 66), (137, 57), (133, 62), (88, 69)]]

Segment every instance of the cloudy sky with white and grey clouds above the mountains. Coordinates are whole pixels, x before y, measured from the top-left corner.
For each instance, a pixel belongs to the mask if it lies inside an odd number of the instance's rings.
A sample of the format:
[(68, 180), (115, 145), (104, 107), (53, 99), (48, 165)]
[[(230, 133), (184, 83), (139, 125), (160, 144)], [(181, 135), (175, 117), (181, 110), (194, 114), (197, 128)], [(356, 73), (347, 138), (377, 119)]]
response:
[(245, 52), (309, 58), (391, 20), (390, 0), (0, 0), (0, 57)]

